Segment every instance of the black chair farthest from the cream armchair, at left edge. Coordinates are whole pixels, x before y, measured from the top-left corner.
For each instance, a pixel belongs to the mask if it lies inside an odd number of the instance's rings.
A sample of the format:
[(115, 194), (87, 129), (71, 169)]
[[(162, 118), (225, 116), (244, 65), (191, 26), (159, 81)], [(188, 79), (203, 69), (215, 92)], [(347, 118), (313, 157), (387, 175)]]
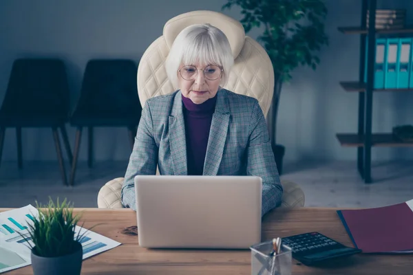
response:
[(18, 166), (23, 168), (21, 129), (51, 127), (63, 183), (67, 185), (58, 129), (70, 164), (72, 151), (65, 129), (70, 118), (70, 94), (63, 61), (19, 58), (12, 65), (6, 96), (0, 109), (0, 161), (6, 128), (16, 128)]

